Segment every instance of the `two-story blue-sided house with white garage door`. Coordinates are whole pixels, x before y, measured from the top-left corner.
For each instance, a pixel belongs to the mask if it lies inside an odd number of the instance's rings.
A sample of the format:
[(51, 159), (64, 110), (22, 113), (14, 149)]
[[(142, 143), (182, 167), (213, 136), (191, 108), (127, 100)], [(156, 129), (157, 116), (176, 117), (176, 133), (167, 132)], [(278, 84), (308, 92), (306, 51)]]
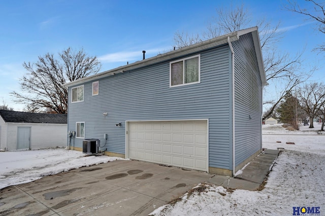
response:
[(68, 131), (78, 150), (232, 175), (261, 152), (266, 84), (248, 28), (65, 84)]

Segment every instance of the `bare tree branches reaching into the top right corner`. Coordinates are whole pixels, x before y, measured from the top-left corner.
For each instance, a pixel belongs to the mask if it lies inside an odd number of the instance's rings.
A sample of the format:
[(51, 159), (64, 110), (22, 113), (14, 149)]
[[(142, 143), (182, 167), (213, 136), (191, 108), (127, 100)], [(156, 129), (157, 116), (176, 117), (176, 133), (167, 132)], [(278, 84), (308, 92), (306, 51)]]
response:
[[(310, 20), (317, 22), (319, 32), (325, 34), (325, 6), (324, 2), (319, 2), (315, 0), (305, 0), (311, 5), (310, 9), (301, 8), (296, 1), (288, 0), (288, 4), (284, 8), (288, 11), (293, 11), (299, 14), (307, 16)], [(325, 44), (323, 43), (318, 48), (315, 48), (320, 51), (325, 51)]]

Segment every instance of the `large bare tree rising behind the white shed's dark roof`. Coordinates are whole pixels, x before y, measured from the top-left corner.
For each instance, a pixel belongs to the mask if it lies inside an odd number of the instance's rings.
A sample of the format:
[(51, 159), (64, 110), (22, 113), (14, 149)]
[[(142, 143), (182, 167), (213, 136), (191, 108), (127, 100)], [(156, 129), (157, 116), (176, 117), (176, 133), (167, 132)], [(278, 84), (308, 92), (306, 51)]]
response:
[(58, 58), (47, 53), (39, 56), (37, 63), (23, 63), (23, 67), (28, 71), (20, 79), (24, 93), (11, 92), (15, 101), (67, 113), (68, 91), (62, 84), (98, 73), (101, 63), (96, 57), (87, 56), (83, 49), (75, 51), (69, 47), (58, 53)]

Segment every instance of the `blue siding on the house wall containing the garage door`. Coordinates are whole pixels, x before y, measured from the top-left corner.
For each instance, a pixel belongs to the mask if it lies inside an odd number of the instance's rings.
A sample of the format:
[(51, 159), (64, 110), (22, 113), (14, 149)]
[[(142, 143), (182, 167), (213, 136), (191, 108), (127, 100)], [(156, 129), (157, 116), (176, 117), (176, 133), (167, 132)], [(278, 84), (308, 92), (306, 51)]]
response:
[[(171, 59), (99, 79), (96, 96), (92, 81), (85, 82), (82, 102), (71, 103), (69, 87), (68, 130), (76, 130), (77, 121), (85, 122), (85, 138), (101, 139), (103, 146), (106, 133), (103, 148), (124, 154), (126, 120), (209, 119), (209, 166), (231, 169), (229, 47), (196, 54), (201, 54), (198, 84), (169, 87), (169, 63), (176, 60)], [(116, 127), (119, 122), (122, 126)], [(74, 139), (71, 145), (82, 147), (82, 140)]]

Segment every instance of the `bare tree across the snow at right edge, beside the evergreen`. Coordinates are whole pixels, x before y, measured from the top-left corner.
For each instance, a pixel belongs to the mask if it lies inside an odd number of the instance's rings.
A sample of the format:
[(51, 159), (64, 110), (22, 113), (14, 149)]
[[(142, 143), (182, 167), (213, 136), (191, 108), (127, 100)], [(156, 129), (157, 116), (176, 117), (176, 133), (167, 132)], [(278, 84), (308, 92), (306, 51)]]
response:
[(309, 128), (314, 128), (313, 119), (325, 101), (325, 85), (317, 82), (305, 84), (297, 89), (297, 97), (301, 102), (302, 109), (310, 118)]

